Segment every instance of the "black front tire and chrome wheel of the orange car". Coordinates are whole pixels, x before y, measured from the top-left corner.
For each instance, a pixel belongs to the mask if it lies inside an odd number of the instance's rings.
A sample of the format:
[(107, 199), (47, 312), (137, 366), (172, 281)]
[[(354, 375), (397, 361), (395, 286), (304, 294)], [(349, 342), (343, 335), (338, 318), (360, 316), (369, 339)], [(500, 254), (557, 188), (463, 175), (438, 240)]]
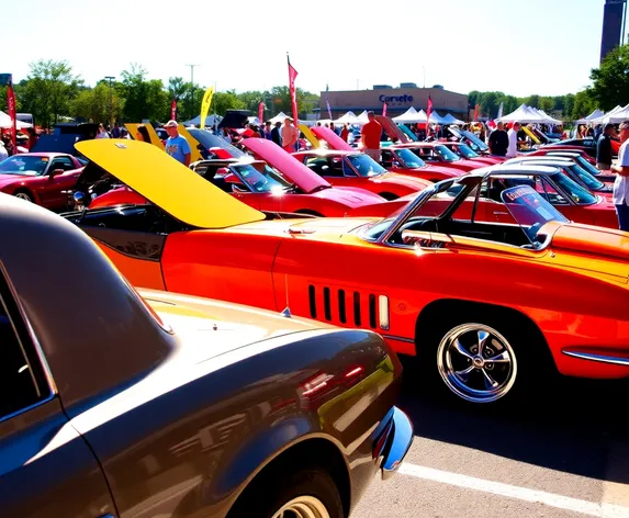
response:
[[(430, 326), (428, 330), (418, 329), (422, 340), (417, 345), (419, 369), (440, 397), (474, 406), (509, 406), (515, 402), (535, 399), (536, 387), (543, 385), (548, 391), (554, 380), (555, 371), (548, 346), (541, 333), (524, 317), (468, 309), (439, 315), (426, 324)], [(473, 342), (474, 337), (481, 336), (479, 333), (488, 334), (483, 346), (482, 362), (479, 360), (479, 346)], [(458, 352), (456, 339), (473, 358)], [(486, 358), (498, 357), (501, 360), (509, 358), (510, 361), (485, 361)], [(483, 367), (475, 367), (476, 361)], [(463, 375), (469, 369), (470, 373)], [(497, 383), (495, 388), (490, 388), (491, 382), (485, 374)]]

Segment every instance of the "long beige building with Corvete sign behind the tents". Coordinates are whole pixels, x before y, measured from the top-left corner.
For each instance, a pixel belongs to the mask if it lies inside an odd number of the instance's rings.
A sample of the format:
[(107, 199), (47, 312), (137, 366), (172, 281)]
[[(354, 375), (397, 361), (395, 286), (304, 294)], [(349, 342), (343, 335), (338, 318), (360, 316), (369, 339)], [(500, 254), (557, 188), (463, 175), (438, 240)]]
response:
[(346, 90), (321, 92), (321, 119), (328, 119), (326, 99), (329, 101), (333, 119), (338, 119), (347, 111), (357, 115), (363, 110), (373, 110), (382, 113), (386, 102), (386, 114), (401, 115), (411, 106), (415, 110), (426, 111), (428, 95), (433, 100), (433, 109), (441, 115), (451, 113), (456, 117), (468, 119), (468, 95), (445, 90), (440, 86), (433, 88), (417, 88), (414, 83), (402, 83), (400, 88), (390, 86), (374, 86), (371, 90)]

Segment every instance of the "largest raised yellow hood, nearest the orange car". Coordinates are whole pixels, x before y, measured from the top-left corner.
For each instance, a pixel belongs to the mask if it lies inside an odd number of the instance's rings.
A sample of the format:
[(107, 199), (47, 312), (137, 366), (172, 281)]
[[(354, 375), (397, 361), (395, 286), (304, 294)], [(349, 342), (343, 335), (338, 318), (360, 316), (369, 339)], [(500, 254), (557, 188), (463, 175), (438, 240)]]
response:
[(200, 228), (258, 222), (265, 214), (144, 142), (99, 138), (77, 150), (177, 219)]

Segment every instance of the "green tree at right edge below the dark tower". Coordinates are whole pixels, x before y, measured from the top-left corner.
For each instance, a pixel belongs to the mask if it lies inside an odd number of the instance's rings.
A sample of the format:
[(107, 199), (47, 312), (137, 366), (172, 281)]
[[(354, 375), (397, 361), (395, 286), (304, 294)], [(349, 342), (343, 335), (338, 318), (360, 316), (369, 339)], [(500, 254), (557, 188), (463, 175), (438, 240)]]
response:
[(624, 106), (629, 99), (629, 45), (611, 50), (600, 68), (592, 69), (589, 79), (593, 81), (591, 98), (600, 110)]

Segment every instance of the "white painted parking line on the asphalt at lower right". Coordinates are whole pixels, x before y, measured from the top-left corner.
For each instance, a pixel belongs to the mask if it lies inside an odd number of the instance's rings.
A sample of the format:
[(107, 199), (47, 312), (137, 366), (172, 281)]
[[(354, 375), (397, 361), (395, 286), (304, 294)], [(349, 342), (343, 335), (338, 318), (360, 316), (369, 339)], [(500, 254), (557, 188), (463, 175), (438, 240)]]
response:
[(546, 493), (543, 491), (528, 489), (526, 487), (518, 487), (509, 484), (503, 484), (501, 482), (475, 478), (473, 476), (460, 475), (458, 473), (434, 470), (431, 468), (424, 468), (415, 464), (403, 463), (400, 468), (400, 473), (414, 476), (416, 478), (441, 482), (443, 484), (465, 487), (468, 489), (482, 491), (485, 493), (492, 493), (494, 495), (506, 496), (507, 498), (516, 498), (518, 500), (543, 504), (550, 507), (572, 510), (574, 513), (581, 513), (588, 516), (597, 516), (600, 518), (629, 518), (629, 507), (614, 504), (597, 504), (595, 502), (580, 500), (579, 498), (571, 498), (570, 496), (555, 495), (553, 493)]

